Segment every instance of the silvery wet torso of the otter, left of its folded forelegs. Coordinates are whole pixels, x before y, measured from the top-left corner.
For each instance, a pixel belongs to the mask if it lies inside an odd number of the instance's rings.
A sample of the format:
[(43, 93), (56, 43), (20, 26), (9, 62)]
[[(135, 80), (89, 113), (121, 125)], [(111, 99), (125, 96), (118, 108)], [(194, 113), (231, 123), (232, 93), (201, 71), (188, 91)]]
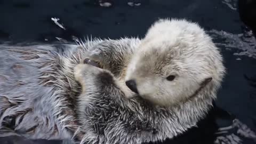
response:
[[(85, 58), (90, 47), (106, 44), (133, 49), (139, 42), (136, 38), (125, 38), (95, 39), (83, 46), (0, 45), (0, 136), (73, 138), (80, 125), (76, 102), (81, 91), (74, 78), (74, 67)], [(80, 140), (83, 136), (77, 135)]]

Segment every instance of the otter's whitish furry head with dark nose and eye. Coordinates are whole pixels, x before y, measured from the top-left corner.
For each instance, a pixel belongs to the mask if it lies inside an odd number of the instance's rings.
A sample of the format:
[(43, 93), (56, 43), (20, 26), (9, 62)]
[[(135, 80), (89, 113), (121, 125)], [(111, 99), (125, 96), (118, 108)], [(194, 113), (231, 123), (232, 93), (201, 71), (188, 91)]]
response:
[(215, 98), (225, 74), (210, 36), (186, 20), (158, 20), (134, 53), (125, 80), (135, 81), (139, 95), (157, 105), (170, 106), (195, 94)]

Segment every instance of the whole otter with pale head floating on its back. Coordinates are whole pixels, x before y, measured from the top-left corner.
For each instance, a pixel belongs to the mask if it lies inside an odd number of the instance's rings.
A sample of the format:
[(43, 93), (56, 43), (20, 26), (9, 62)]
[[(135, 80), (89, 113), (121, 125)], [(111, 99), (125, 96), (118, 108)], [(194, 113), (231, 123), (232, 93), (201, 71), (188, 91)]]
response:
[(142, 40), (1, 48), (0, 135), (31, 139), (173, 138), (206, 115), (225, 73), (211, 38), (186, 20), (159, 20)]

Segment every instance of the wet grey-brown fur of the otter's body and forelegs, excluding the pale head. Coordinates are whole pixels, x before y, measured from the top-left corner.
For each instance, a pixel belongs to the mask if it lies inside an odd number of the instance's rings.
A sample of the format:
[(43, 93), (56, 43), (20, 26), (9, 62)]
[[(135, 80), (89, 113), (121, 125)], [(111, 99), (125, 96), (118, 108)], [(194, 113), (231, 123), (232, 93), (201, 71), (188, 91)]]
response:
[[(94, 39), (79, 45), (1, 45), (0, 136), (141, 143), (172, 138), (195, 126), (210, 109), (224, 73), (217, 47), (212, 49), (220, 60), (218, 76), (205, 81), (206, 85), (200, 82), (203, 88), (199, 86), (193, 97), (164, 107), (141, 97), (127, 99), (123, 85), (118, 84), (118, 78), (127, 76), (129, 70), (124, 67), (125, 59), (142, 42), (122, 38)], [(94, 50), (110, 54), (110, 65), (103, 66), (105, 69), (77, 65)], [(75, 81), (75, 66), (80, 71), (76, 75), (82, 74), (78, 79), (82, 90)]]

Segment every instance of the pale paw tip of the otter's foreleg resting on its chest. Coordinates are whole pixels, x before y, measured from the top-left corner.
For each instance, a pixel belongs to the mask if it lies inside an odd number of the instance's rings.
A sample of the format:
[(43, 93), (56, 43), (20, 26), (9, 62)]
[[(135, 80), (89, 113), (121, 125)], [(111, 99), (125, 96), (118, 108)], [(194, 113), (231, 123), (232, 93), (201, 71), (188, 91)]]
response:
[(78, 64), (74, 68), (74, 76), (76, 81), (81, 82), (82, 79), (91, 78), (99, 74), (103, 69), (88, 65), (88, 64)]

